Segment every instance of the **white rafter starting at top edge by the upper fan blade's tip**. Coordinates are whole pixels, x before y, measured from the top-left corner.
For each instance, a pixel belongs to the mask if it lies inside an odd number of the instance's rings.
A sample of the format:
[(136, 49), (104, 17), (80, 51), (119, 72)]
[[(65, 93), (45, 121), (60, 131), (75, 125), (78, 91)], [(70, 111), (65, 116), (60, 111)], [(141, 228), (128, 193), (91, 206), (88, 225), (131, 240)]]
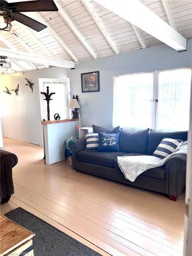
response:
[(66, 24), (70, 27), (70, 29), (73, 31), (73, 33), (76, 35), (76, 37), (80, 40), (81, 44), (84, 46), (84, 48), (87, 49), (87, 51), (91, 54), (93, 58), (97, 58), (97, 54), (94, 52), (94, 50), (91, 48), (91, 46), (88, 44), (86, 39), (81, 35), (81, 33), (78, 31), (78, 29), (74, 26), (74, 24), (71, 22), (70, 18), (68, 15), (63, 11), (63, 9), (60, 7), (60, 5), (54, 1), (60, 16), (65, 20)]

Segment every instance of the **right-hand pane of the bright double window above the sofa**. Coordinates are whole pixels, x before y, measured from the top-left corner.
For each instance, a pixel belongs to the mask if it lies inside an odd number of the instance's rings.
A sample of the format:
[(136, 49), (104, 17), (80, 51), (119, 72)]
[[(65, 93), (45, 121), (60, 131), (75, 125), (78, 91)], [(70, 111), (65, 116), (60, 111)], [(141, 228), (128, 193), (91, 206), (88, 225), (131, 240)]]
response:
[(189, 124), (191, 70), (159, 72), (158, 131), (187, 131)]

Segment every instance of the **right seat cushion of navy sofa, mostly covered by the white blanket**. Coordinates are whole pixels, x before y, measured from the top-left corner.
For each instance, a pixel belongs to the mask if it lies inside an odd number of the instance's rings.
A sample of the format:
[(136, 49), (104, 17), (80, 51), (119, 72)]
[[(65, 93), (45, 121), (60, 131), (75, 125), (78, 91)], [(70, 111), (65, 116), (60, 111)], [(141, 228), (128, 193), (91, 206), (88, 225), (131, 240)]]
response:
[[(145, 154), (137, 154), (137, 153), (130, 153), (130, 154), (124, 154), (123, 156), (144, 156)], [(117, 159), (114, 161), (114, 167), (117, 170), (120, 170), (119, 165), (117, 163)], [(147, 176), (151, 178), (156, 178), (156, 179), (164, 179), (165, 178), (165, 167), (160, 166), (152, 169), (145, 170), (142, 174), (142, 176)]]

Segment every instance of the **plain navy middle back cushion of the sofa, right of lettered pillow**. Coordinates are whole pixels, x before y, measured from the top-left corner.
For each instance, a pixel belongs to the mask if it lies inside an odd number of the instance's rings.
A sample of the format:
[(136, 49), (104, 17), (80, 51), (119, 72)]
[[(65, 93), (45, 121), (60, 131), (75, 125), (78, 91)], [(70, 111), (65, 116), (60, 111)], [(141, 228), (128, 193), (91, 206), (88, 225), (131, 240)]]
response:
[(129, 131), (121, 129), (119, 138), (120, 150), (127, 153), (146, 154), (148, 130)]

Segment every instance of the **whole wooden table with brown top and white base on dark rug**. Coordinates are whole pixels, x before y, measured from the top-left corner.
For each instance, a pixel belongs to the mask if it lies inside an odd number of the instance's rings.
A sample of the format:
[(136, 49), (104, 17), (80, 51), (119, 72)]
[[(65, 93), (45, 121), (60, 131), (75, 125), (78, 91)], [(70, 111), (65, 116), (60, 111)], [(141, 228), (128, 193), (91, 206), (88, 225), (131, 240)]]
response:
[(33, 256), (33, 242), (35, 234), (26, 228), (14, 223), (5, 216), (0, 216), (0, 255)]

